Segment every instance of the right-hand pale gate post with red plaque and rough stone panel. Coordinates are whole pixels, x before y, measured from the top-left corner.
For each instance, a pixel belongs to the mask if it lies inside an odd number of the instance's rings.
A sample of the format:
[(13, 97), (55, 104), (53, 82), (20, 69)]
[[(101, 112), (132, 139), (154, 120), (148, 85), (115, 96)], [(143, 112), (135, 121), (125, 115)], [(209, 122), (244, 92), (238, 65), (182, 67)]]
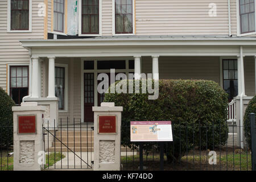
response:
[(94, 111), (94, 171), (121, 169), (121, 112), (123, 107), (102, 102)]

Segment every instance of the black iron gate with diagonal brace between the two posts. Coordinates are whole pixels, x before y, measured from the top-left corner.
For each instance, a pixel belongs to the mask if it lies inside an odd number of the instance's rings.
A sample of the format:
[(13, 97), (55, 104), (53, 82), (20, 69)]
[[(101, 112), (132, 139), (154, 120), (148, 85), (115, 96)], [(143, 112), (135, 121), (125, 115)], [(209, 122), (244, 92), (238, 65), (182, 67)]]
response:
[(88, 122), (81, 119), (60, 119), (59, 126), (43, 125), (44, 169), (92, 169), (93, 130)]

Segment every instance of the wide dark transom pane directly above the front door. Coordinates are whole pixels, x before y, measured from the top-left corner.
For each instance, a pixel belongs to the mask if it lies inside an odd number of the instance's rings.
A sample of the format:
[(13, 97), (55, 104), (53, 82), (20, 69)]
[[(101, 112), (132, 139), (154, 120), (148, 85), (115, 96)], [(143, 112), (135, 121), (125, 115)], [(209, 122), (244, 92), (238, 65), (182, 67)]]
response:
[(125, 60), (122, 61), (97, 61), (97, 69), (125, 69)]

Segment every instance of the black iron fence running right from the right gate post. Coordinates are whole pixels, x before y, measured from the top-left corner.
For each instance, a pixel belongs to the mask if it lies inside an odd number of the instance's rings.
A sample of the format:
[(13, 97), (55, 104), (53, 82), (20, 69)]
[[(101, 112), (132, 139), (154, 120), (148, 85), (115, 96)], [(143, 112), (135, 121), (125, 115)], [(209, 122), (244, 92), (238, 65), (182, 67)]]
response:
[[(252, 149), (255, 148), (256, 152), (255, 118), (251, 119), (254, 121), (251, 122), (254, 123), (251, 126), (254, 128), (251, 130), (252, 145), (240, 135), (243, 126), (174, 124), (173, 142), (123, 144), (122, 170), (254, 170), (256, 158)], [(129, 129), (129, 126), (126, 128)]]

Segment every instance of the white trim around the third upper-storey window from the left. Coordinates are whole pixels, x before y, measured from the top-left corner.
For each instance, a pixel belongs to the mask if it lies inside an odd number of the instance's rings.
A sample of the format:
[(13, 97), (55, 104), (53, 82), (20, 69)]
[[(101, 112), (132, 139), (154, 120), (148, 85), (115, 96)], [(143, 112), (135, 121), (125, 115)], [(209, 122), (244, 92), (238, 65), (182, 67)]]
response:
[(99, 34), (82, 34), (82, 0), (79, 0), (79, 36), (101, 36), (102, 35), (102, 0), (99, 0), (99, 20), (98, 20), (98, 31)]

